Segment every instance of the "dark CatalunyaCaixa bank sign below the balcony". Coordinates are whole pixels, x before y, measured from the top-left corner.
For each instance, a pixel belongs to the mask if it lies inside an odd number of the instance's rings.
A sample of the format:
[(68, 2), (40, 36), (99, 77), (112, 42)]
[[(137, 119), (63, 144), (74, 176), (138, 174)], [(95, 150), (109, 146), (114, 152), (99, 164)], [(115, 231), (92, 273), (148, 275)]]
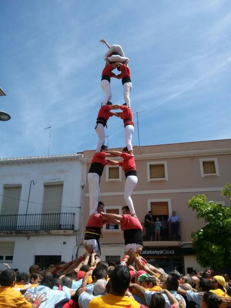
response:
[(141, 256), (184, 256), (184, 255), (194, 255), (192, 248), (181, 248), (181, 247), (165, 247), (165, 248), (153, 248), (153, 247), (143, 247)]

